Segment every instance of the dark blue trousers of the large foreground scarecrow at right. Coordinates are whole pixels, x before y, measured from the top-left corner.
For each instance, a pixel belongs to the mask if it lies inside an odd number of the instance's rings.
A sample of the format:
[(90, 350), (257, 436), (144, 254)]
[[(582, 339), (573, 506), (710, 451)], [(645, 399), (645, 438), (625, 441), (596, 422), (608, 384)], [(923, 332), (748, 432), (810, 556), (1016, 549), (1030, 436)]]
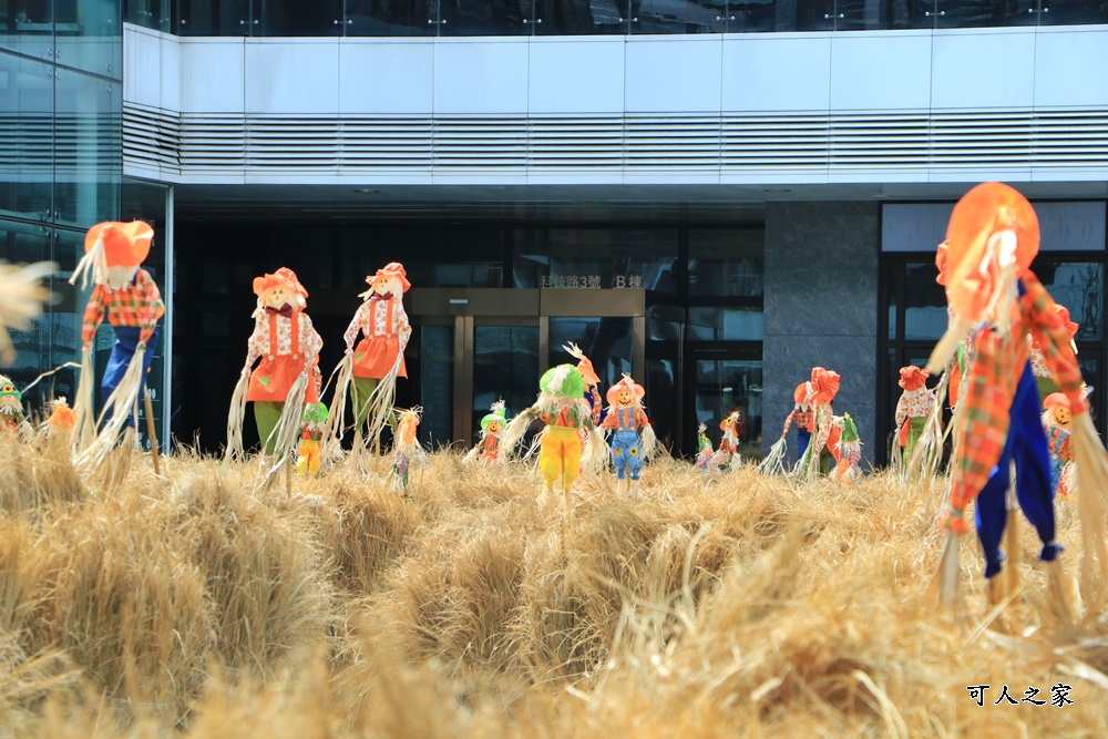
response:
[(1043, 407), (1039, 404), (1038, 386), (1032, 374), (1030, 363), (1023, 376), (1012, 401), (1008, 438), (988, 482), (977, 495), (977, 535), (985, 553), (985, 577), (1001, 571), (1004, 555), (1001, 540), (1007, 523), (1006, 497), (1009, 469), (1016, 463), (1016, 500), (1024, 515), (1035, 526), (1043, 551), (1039, 558), (1049, 562), (1058, 556), (1061, 547), (1054, 541), (1054, 491), (1050, 484), (1050, 455), (1043, 431)]

